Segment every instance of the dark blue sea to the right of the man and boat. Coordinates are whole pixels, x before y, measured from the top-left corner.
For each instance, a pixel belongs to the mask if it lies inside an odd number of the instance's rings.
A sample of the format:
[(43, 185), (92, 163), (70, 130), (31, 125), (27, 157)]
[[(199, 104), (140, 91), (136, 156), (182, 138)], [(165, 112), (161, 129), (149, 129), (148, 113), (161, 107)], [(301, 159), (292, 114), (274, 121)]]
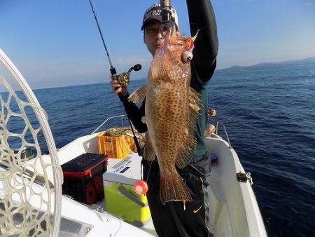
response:
[(219, 71), (210, 88), (269, 236), (315, 236), (315, 66)]

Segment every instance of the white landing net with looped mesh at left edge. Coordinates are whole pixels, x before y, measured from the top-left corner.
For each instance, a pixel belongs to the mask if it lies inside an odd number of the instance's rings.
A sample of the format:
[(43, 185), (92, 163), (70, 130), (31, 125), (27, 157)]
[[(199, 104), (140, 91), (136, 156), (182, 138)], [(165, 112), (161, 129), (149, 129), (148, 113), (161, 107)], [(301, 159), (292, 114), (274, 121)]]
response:
[(58, 236), (62, 172), (45, 111), (0, 48), (1, 66), (0, 236)]

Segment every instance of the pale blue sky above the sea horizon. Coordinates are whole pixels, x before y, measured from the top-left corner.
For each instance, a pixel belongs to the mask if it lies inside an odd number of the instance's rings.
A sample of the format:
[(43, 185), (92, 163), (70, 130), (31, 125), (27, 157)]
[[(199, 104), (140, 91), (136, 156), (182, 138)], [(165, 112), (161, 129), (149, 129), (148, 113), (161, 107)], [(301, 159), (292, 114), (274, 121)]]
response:
[[(118, 72), (152, 60), (140, 30), (148, 0), (93, 0)], [(190, 34), (186, 1), (173, 0), (182, 34)], [(315, 56), (314, 0), (213, 0), (218, 69)], [(31, 88), (109, 81), (107, 60), (89, 0), (0, 0), (0, 48)]]

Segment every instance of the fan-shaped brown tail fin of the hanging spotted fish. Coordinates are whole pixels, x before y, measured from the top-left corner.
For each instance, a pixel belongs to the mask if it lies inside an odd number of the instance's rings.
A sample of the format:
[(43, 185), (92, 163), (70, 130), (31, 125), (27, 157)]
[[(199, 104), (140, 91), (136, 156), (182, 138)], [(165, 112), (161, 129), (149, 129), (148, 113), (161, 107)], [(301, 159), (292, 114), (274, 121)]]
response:
[(161, 175), (160, 199), (163, 204), (168, 201), (193, 201), (189, 190), (176, 172), (176, 175)]

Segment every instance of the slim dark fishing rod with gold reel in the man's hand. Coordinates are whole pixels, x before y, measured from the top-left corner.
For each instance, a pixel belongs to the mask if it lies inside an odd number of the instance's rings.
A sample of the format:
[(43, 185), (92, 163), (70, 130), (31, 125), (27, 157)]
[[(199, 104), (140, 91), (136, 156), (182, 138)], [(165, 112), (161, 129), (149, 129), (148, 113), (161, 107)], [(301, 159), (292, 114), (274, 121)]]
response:
[[(107, 55), (107, 57), (109, 59), (109, 65), (111, 66), (109, 71), (111, 72), (112, 79), (113, 80), (118, 80), (119, 83), (122, 86), (128, 86), (128, 84), (130, 82), (130, 73), (132, 72), (132, 70), (134, 70), (136, 72), (139, 71), (141, 69), (141, 65), (139, 65), (139, 64), (134, 65), (133, 67), (130, 67), (130, 69), (127, 72), (123, 72), (123, 73), (117, 75), (116, 68), (113, 67), (113, 64), (111, 63), (111, 57), (109, 57), (109, 50), (107, 50), (106, 43), (104, 41), (104, 37), (103, 37), (103, 34), (102, 34), (101, 27), (99, 27), (99, 20), (97, 19), (97, 11), (95, 10), (95, 8), (94, 8), (94, 6), (92, 4), (92, 0), (90, 0), (90, 6), (92, 8), (92, 13), (94, 15), (95, 22), (97, 23), (97, 28), (99, 29), (99, 34), (101, 35), (101, 38), (102, 38), (102, 42), (103, 42), (103, 46), (105, 48), (106, 55)], [(124, 108), (125, 108), (125, 111), (126, 111), (126, 114), (127, 114), (127, 110), (126, 110), (125, 104), (124, 104)], [(128, 114), (127, 114), (127, 118), (128, 118), (129, 123), (130, 123), (130, 128), (132, 130), (132, 134), (134, 135), (134, 143), (136, 144), (137, 152), (138, 152), (139, 156), (141, 156), (141, 147), (140, 147), (139, 142), (137, 140), (137, 137), (136, 137), (136, 135), (134, 133), (134, 128), (132, 127), (132, 123), (130, 121), (130, 118), (129, 118)]]

